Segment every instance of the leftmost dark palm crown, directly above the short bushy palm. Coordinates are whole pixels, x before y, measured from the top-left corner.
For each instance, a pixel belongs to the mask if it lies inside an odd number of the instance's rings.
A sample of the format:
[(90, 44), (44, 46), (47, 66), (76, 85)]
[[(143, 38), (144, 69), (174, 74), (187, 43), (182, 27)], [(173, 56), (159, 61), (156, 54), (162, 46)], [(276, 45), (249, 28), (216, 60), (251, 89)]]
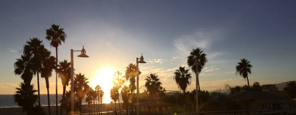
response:
[(30, 54), (21, 55), (21, 58), (16, 59), (15, 74), (21, 75), (25, 84), (31, 84), (33, 78), (33, 64), (30, 62)]

